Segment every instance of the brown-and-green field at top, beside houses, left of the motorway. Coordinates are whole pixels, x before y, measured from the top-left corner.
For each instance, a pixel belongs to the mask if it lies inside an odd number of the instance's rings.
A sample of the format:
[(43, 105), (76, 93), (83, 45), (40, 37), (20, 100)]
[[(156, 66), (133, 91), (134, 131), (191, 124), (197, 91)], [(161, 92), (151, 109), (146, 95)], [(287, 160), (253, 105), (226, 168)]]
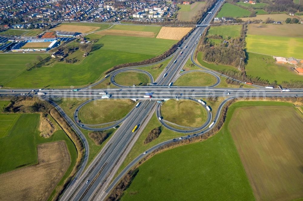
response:
[(177, 12), (177, 20), (179, 21), (191, 21), (191, 19), (198, 14), (198, 12), (204, 7), (205, 2), (195, 2), (191, 5), (178, 5), (180, 9)]

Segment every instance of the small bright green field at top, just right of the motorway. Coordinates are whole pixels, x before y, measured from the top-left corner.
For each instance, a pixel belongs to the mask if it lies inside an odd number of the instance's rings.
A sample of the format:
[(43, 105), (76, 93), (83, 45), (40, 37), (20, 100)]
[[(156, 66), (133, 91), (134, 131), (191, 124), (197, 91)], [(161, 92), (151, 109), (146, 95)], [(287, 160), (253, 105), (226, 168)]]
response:
[(251, 12), (244, 8), (240, 8), (230, 3), (225, 3), (222, 6), (221, 10), (218, 12), (217, 18), (222, 18), (222, 17), (242, 18), (242, 17), (248, 17), (250, 14)]

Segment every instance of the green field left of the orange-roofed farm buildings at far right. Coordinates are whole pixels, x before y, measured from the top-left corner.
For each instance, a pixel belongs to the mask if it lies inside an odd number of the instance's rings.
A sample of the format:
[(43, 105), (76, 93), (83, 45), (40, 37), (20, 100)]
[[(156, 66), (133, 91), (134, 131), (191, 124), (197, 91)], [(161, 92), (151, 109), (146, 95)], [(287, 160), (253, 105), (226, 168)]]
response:
[[(293, 67), (293, 66), (291, 66)], [(288, 65), (281, 65), (275, 62), (272, 56), (266, 56), (255, 53), (248, 53), (248, 62), (245, 66), (247, 75), (260, 77), (268, 80), (270, 83), (273, 81), (302, 81), (302, 76), (295, 73)]]

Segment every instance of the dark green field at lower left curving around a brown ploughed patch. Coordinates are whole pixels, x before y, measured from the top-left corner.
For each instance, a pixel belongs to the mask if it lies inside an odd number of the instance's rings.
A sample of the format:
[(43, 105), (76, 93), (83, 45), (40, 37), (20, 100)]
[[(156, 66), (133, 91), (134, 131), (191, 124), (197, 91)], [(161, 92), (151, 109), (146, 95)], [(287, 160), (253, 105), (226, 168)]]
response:
[[(11, 121), (12, 116), (18, 116), (15, 117), (17, 118), (15, 122)], [(1, 125), (10, 126), (7, 130), (8, 134), (0, 139), (0, 174), (37, 164), (36, 145), (59, 140), (64, 140), (68, 147), (72, 161), (68, 172), (71, 172), (77, 158), (74, 144), (63, 130), (56, 131), (47, 139), (40, 137), (38, 131), (39, 118), (40, 114), (0, 114)], [(4, 123), (6, 124), (4, 125)], [(68, 174), (65, 174), (65, 178)]]

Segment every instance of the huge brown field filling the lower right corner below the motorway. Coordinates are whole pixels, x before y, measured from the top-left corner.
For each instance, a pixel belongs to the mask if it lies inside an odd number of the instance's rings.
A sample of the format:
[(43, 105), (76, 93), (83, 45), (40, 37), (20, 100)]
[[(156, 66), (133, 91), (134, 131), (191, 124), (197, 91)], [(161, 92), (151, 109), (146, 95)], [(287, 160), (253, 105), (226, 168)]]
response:
[(236, 108), (228, 124), (257, 200), (303, 196), (303, 119), (295, 107)]

